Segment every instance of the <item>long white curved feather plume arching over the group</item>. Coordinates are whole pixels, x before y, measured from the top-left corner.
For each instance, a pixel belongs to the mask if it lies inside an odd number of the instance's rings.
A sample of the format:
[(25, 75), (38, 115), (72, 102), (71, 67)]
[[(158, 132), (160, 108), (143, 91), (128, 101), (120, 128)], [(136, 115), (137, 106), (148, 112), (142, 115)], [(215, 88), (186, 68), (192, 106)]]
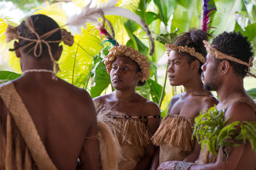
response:
[(153, 55), (153, 37), (148, 29), (148, 26), (145, 24), (145, 22), (141, 19), (139, 15), (135, 14), (132, 11), (129, 11), (128, 9), (115, 6), (118, 0), (109, 0), (105, 5), (101, 3), (99, 4), (99, 6), (94, 7), (90, 7), (91, 2), (92, 1), (90, 1), (90, 3), (82, 9), (80, 14), (75, 14), (71, 16), (68, 25), (75, 26), (76, 28), (78, 28), (78, 30), (80, 30), (80, 26), (86, 27), (86, 23), (98, 23), (98, 18), (104, 18), (104, 15), (117, 15), (126, 17), (138, 23), (143, 28), (143, 30), (148, 34), (148, 37), (151, 42), (151, 51), (149, 52), (149, 55)]

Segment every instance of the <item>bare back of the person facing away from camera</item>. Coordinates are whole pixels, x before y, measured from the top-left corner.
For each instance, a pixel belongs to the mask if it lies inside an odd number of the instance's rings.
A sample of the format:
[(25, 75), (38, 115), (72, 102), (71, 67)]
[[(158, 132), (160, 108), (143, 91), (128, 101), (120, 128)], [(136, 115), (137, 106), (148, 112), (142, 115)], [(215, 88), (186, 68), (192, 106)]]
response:
[[(99, 169), (99, 142), (86, 139), (97, 134), (90, 95), (61, 79), (52, 80), (51, 74), (45, 73), (24, 75), (14, 84), (55, 166), (60, 170), (76, 169), (80, 158), (83, 166)], [(98, 159), (87, 156), (88, 144)]]

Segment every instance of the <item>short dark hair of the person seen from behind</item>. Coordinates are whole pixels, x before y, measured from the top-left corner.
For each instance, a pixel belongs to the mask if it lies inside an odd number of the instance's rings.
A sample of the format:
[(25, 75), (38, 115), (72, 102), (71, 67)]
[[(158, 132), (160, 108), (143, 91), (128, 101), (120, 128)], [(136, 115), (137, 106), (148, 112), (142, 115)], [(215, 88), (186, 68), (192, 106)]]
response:
[[(58, 24), (50, 17), (43, 15), (43, 14), (37, 14), (37, 15), (31, 15), (30, 16), (34, 26), (35, 31), (41, 36), (42, 34), (45, 34), (55, 28), (58, 28)], [(19, 26), (19, 32), (21, 33), (21, 37), (26, 37), (29, 39), (37, 39), (36, 35), (30, 31), (30, 29), (26, 26), (25, 21), (23, 21)], [(54, 34), (50, 35), (46, 41), (57, 41), (61, 40), (61, 31), (58, 30)], [(31, 41), (20, 39), (19, 47), (22, 47), (29, 43)], [(56, 51), (58, 50), (58, 44), (59, 43), (49, 43), (52, 51), (52, 55), (55, 55)], [(30, 51), (31, 48), (35, 46), (35, 43), (32, 45), (29, 45), (28, 47), (22, 49), (23, 53), (28, 53), (29, 56), (34, 56), (34, 50)], [(29, 52), (30, 51), (30, 52)], [(37, 54), (39, 53), (39, 46), (37, 48)], [(42, 54), (41, 56), (49, 56), (48, 47), (45, 43), (42, 43)], [(40, 57), (39, 57), (40, 58)]]

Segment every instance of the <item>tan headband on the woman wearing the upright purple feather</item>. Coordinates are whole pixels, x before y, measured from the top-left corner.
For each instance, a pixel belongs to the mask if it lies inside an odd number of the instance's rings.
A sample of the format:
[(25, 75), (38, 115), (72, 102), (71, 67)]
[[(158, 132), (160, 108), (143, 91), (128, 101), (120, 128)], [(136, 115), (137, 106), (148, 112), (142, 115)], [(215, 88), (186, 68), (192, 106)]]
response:
[(170, 52), (171, 52), (172, 50), (179, 50), (179, 52), (180, 52), (180, 51), (187, 52), (187, 53), (189, 53), (190, 55), (196, 57), (196, 58), (199, 59), (203, 64), (206, 62), (205, 57), (204, 57), (202, 54), (200, 54), (200, 53), (198, 53), (198, 52), (195, 52), (195, 48), (194, 48), (194, 47), (193, 47), (193, 48), (190, 48), (190, 47), (188, 47), (187, 45), (186, 45), (185, 47), (183, 47), (183, 46), (177, 46), (177, 45), (173, 45), (173, 44), (169, 44), (169, 43), (166, 43), (164, 46), (165, 46), (165, 48), (166, 48), (166, 52), (167, 52), (166, 54), (168, 55), (168, 57), (169, 57), (169, 54), (170, 54)]

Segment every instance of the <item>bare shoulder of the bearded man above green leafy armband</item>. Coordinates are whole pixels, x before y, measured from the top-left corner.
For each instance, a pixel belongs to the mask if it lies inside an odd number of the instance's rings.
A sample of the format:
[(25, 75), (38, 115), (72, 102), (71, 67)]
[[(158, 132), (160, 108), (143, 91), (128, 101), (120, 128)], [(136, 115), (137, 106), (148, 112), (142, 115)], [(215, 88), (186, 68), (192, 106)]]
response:
[(230, 118), (229, 122), (234, 121), (256, 121), (256, 113), (250, 105), (242, 102), (235, 102), (227, 108), (224, 119)]

